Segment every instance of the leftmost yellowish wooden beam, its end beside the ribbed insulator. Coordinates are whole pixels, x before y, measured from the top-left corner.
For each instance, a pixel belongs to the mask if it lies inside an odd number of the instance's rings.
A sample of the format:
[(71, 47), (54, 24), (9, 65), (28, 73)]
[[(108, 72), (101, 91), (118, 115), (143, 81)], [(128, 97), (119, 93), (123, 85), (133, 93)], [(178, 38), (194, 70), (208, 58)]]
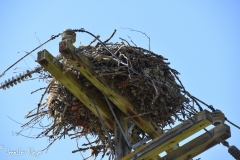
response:
[(61, 67), (57, 59), (55, 59), (47, 50), (38, 52), (37, 62), (46, 69), (53, 77), (56, 78), (64, 87), (66, 87), (74, 96), (76, 96), (88, 109), (90, 109), (96, 116), (98, 116), (95, 110), (92, 100), (99, 110), (100, 116), (104, 121), (104, 124), (111, 130), (114, 130), (114, 121), (112, 120), (112, 114), (97, 95), (88, 95), (88, 88), (77, 79), (73, 73), (66, 72)]

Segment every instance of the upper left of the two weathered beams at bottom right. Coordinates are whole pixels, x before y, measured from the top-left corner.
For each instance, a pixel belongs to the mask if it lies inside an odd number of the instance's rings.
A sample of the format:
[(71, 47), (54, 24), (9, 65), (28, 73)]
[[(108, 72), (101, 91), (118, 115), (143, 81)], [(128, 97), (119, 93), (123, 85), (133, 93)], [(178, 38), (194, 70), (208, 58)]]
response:
[(177, 143), (198, 132), (199, 130), (207, 127), (211, 123), (210, 112), (206, 110), (199, 112), (191, 119), (182, 122), (178, 126), (164, 133), (160, 138), (149, 142), (140, 150), (134, 151), (123, 157), (122, 160), (151, 159), (153, 156), (172, 148)]

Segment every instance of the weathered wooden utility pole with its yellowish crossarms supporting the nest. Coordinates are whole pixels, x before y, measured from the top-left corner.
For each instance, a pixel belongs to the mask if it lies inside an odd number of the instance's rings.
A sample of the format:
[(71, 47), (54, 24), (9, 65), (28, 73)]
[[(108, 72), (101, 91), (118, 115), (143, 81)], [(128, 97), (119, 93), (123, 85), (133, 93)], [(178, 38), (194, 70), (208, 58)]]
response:
[[(120, 94), (117, 88), (110, 86), (109, 79), (102, 77), (100, 81), (94, 76), (91, 71), (92, 62), (77, 52), (76, 47), (73, 45), (75, 41), (75, 32), (72, 30), (64, 31), (62, 33), (62, 41), (59, 43), (60, 53), (104, 94), (107, 103), (99, 100), (97, 95), (90, 97), (87, 94), (87, 87), (74, 78), (72, 73), (63, 74), (63, 68), (47, 50), (38, 53), (37, 62), (88, 107), (90, 111), (101, 118), (105, 127), (114, 131), (116, 160), (191, 159), (216, 144), (224, 142), (231, 136), (230, 127), (224, 124), (224, 115), (221, 112), (210, 113), (206, 110), (199, 112), (168, 132), (162, 133), (145, 116), (136, 116), (138, 113), (134, 110), (134, 105), (128, 98)], [(93, 108), (92, 100), (95, 102), (99, 114)], [(116, 107), (113, 108), (111, 103)], [(132, 117), (131, 121), (146, 134), (154, 135), (152, 137), (153, 140), (149, 143), (146, 143), (146, 141), (139, 142), (141, 145), (130, 144), (130, 126), (128, 121), (124, 119), (127, 116)], [(187, 144), (178, 146), (179, 142), (211, 124), (214, 124), (216, 127)], [(160, 157), (159, 154), (164, 151), (167, 151), (168, 154), (165, 157)]]

